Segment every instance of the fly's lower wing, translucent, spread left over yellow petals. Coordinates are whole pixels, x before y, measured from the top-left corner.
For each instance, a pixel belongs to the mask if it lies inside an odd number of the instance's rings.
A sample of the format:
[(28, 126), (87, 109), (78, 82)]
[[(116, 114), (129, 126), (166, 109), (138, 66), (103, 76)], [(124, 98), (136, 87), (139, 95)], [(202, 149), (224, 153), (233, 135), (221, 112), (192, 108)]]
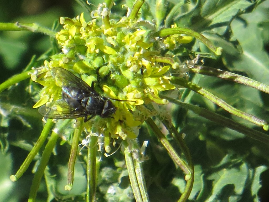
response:
[[(74, 101), (72, 99), (72, 101)], [(57, 100), (55, 103), (48, 103), (38, 108), (38, 112), (48, 119), (75, 119), (86, 117), (87, 115), (81, 108), (70, 106), (68, 99)]]

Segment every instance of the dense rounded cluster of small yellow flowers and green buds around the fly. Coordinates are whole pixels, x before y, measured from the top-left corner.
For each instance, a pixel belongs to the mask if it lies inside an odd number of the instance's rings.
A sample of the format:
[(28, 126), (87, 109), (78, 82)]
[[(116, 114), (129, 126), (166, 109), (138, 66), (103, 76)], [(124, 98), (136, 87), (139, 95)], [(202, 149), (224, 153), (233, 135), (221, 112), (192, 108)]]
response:
[[(31, 76), (44, 86), (34, 107), (60, 99), (61, 88), (55, 84), (50, 69), (67, 69), (89, 85), (94, 82), (94, 89), (100, 95), (130, 101), (114, 102), (117, 110), (113, 119), (97, 118), (98, 121), (85, 124), (92, 132), (125, 140), (137, 137), (141, 123), (153, 116), (148, 110), (152, 102), (168, 103), (160, 98), (159, 92), (176, 88), (170, 83), (169, 75), (171, 69), (179, 67), (178, 63), (156, 55), (162, 48), (172, 49), (178, 42), (190, 42), (192, 37), (171, 36), (161, 41), (151, 37), (152, 30), (147, 28), (150, 23), (128, 17), (109, 20), (109, 13), (106, 5), (100, 4), (91, 13), (93, 19), (89, 22), (83, 13), (74, 19), (60, 19), (63, 29), (56, 34), (56, 39), (62, 53), (45, 61)], [(144, 26), (147, 23), (150, 26)]]

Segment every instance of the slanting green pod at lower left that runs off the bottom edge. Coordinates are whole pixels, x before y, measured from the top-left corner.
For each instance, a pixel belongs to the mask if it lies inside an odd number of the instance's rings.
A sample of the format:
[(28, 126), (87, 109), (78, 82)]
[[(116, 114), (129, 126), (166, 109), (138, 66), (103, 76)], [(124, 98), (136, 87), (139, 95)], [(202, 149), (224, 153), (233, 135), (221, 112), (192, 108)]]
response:
[(38, 165), (37, 171), (34, 175), (33, 183), (30, 188), (28, 202), (36, 201), (37, 190), (40, 185), (41, 178), (44, 174), (46, 166), (48, 165), (49, 157), (51, 156), (52, 150), (55, 147), (58, 137), (59, 137), (58, 134), (52, 132), (51, 137), (49, 138), (49, 141), (44, 149), (42, 158), (40, 160), (40, 164)]

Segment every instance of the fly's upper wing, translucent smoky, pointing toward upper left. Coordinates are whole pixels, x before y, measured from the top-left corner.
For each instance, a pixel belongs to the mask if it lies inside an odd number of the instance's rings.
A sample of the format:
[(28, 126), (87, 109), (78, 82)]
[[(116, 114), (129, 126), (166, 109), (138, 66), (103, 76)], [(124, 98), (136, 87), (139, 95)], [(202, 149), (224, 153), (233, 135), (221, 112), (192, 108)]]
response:
[(52, 76), (55, 78), (56, 85), (62, 87), (72, 87), (87, 93), (89, 96), (98, 96), (98, 93), (91, 88), (86, 82), (71, 72), (61, 67), (51, 69)]

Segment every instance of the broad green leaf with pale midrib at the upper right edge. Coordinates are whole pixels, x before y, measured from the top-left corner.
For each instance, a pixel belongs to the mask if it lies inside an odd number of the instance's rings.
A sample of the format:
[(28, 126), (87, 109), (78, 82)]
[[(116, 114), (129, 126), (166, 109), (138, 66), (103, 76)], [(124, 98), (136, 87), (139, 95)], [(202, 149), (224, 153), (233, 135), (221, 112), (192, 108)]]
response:
[[(257, 9), (248, 14), (240, 15), (240, 19), (231, 22), (234, 37), (238, 40), (242, 52), (237, 58), (227, 57), (226, 62), (231, 71), (247, 71), (250, 78), (269, 84), (269, 56), (264, 51), (261, 29), (258, 23), (268, 19), (268, 1), (257, 6)], [(251, 33), (251, 34), (250, 34)]]

